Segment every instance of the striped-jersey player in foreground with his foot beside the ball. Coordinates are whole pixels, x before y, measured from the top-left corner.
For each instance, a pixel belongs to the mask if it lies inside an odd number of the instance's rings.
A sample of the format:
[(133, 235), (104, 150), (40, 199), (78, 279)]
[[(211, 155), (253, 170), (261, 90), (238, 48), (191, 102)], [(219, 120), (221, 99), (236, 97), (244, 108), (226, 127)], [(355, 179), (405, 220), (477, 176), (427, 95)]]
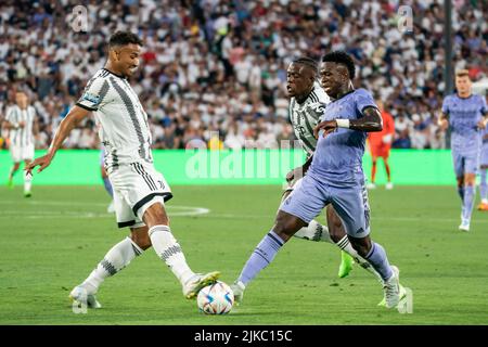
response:
[(113, 246), (70, 292), (75, 303), (92, 308), (101, 307), (95, 294), (102, 282), (151, 246), (179, 280), (187, 298), (194, 298), (220, 274), (194, 273), (169, 229), (164, 204), (172, 197), (171, 190), (154, 168), (147, 114), (128, 81), (139, 65), (141, 47), (141, 39), (128, 31), (111, 37), (105, 67), (88, 81), (84, 94), (60, 124), (48, 154), (27, 168), (28, 172), (36, 166), (38, 172), (46, 169), (72, 129), (94, 113), (106, 150), (105, 167), (113, 187), (117, 223), (119, 228), (129, 227), (130, 236)]

